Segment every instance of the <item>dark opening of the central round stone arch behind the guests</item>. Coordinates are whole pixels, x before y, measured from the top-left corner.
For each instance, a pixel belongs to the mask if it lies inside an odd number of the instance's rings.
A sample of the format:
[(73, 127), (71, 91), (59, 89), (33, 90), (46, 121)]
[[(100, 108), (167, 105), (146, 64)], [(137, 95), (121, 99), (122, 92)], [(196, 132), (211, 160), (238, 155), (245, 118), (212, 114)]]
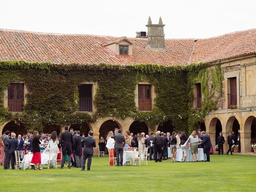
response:
[(108, 135), (108, 132), (115, 130), (115, 128), (122, 129), (121, 124), (116, 120), (106, 120), (102, 123), (99, 130), (99, 138), (103, 136), (103, 138), (106, 140), (106, 136)]

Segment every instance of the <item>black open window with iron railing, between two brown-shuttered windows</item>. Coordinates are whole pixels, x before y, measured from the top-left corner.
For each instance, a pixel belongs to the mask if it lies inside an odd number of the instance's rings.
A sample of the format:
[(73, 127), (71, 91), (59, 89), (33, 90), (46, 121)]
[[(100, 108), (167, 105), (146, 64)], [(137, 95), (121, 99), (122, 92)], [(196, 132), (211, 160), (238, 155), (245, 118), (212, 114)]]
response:
[(92, 112), (92, 84), (78, 86), (79, 111)]

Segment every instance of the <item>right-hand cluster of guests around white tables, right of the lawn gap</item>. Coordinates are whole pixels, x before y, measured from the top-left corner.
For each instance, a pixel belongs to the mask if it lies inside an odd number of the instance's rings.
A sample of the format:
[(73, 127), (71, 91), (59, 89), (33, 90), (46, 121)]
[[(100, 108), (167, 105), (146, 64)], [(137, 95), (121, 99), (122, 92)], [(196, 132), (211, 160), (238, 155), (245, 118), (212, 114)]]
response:
[[(185, 162), (187, 156), (187, 148), (190, 143), (190, 152), (193, 157), (193, 162), (198, 162), (198, 148), (204, 148), (207, 161), (210, 162), (210, 148), (212, 147), (210, 136), (204, 131), (193, 131), (189, 137), (186, 132), (170, 132), (164, 133), (157, 131), (156, 136), (154, 132), (150, 132), (150, 136), (145, 133), (138, 133), (135, 136), (128, 130), (125, 135), (122, 135), (122, 130), (116, 128), (114, 132), (110, 131), (104, 141), (103, 137), (100, 138), (99, 147), (100, 151), (105, 151), (105, 145), (108, 149), (114, 149), (117, 159), (117, 165), (122, 166), (123, 163), (123, 150), (124, 148), (139, 148), (140, 152), (144, 153), (144, 148), (148, 148), (148, 160), (154, 157), (155, 162), (161, 162), (168, 159), (168, 147), (171, 149), (172, 162), (176, 162), (176, 150), (182, 149), (182, 162)], [(113, 162), (110, 162), (112, 165)]]

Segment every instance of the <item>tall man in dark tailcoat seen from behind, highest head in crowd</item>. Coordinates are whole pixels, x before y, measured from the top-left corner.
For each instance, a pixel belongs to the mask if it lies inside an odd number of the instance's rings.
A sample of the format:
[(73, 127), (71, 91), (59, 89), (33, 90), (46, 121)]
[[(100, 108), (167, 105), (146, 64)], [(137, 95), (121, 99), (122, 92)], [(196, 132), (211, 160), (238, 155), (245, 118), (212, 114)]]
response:
[(64, 168), (65, 156), (66, 154), (68, 154), (68, 168), (70, 169), (73, 136), (72, 136), (72, 133), (68, 132), (67, 126), (65, 127), (65, 131), (61, 133), (60, 146), (61, 146), (61, 152), (62, 152), (60, 168), (61, 169)]

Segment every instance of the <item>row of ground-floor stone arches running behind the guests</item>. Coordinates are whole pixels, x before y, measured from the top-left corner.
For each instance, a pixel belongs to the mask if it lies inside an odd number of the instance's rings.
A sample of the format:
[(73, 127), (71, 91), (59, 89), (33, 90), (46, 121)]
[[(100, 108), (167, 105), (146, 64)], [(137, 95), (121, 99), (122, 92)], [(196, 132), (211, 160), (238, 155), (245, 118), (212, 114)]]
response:
[[(97, 122), (85, 122), (83, 124), (69, 125), (69, 128), (74, 130), (80, 130), (81, 134), (89, 132), (89, 130), (94, 131), (94, 138), (98, 143), (99, 136), (106, 138), (109, 131), (114, 131), (114, 128), (122, 129), (122, 133), (126, 130), (137, 134), (138, 132), (145, 132), (145, 134), (150, 134), (148, 122), (138, 122), (130, 121), (130, 118), (125, 119), (105, 119), (99, 118)], [(252, 152), (251, 143), (256, 143), (256, 112), (236, 112), (234, 113), (218, 113), (218, 114), (208, 114), (204, 118), (204, 122), (198, 123), (196, 130), (201, 128), (209, 134), (212, 142), (212, 146), (216, 145), (216, 138), (219, 132), (223, 133), (226, 140), (228, 132), (234, 131), (236, 136), (238, 129), (240, 129), (241, 138), (241, 153)], [(161, 132), (172, 132), (176, 131), (172, 125), (171, 121), (167, 121), (158, 124), (154, 128), (154, 132), (160, 130)], [(22, 124), (15, 124), (14, 121), (5, 122), (0, 125), (0, 134), (3, 134), (6, 130), (14, 131), (16, 134), (26, 133), (26, 128)], [(54, 125), (44, 125), (43, 131), (50, 133), (55, 130), (58, 134), (64, 131), (64, 126), (54, 126)], [(190, 134), (190, 133), (186, 133)], [(224, 144), (224, 152), (228, 149), (228, 145)], [(97, 149), (96, 149), (97, 151)]]

